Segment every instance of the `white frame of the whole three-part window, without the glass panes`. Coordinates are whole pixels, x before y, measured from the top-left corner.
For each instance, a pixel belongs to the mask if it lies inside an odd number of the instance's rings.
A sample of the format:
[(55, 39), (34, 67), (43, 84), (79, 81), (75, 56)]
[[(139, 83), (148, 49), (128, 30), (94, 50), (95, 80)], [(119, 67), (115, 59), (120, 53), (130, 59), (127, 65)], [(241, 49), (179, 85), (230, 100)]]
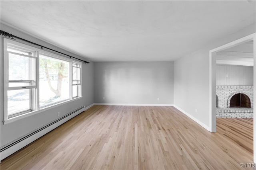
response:
[[(35, 83), (33, 86), (17, 86), (17, 87), (9, 87), (9, 68), (8, 68), (8, 64), (9, 64), (9, 61), (8, 61), (8, 58), (9, 58), (9, 55), (8, 53), (14, 53), (14, 52), (10, 52), (10, 51), (7, 51), (7, 48), (8, 46), (11, 46), (11, 47), (17, 47), (18, 49), (24, 49), (25, 51), (29, 51), (29, 52), (33, 52), (34, 53), (34, 58), (36, 61), (35, 61), (35, 72), (33, 75), (35, 78)], [(17, 54), (17, 53), (16, 53)], [(48, 106), (43, 106), (43, 107), (39, 107), (39, 55), (42, 54), (42, 55), (46, 55), (47, 57), (51, 57), (51, 58), (55, 58), (55, 59), (59, 59), (59, 60), (62, 60), (62, 61), (67, 61), (69, 62), (68, 64), (68, 69), (69, 69), (69, 80), (70, 80), (70, 84), (69, 84), (69, 99), (67, 100), (64, 100), (64, 101), (59, 101), (59, 102), (56, 102), (56, 103), (52, 103)], [(20, 55), (20, 54), (18, 54)], [(24, 56), (24, 57), (31, 57), (31, 56), (27, 56), (27, 55), (21, 55), (21, 56)], [(73, 76), (73, 71), (72, 71), (72, 66), (73, 66), (73, 63), (76, 63), (76, 64), (79, 64), (80, 65), (80, 90), (78, 90), (78, 96), (76, 98), (73, 98), (72, 96), (72, 76)], [(28, 80), (21, 80), (22, 82), (28, 82)], [(14, 82), (17, 82), (17, 81), (14, 81)], [(31, 96), (30, 96), (30, 100), (31, 100), (31, 108), (32, 110), (31, 111), (28, 111), (28, 112), (19, 112), (19, 113), (14, 113), (12, 115), (17, 115), (15, 117), (11, 117), (11, 118), (8, 118), (8, 116), (10, 117), (10, 115), (8, 115), (8, 91), (9, 90), (19, 90), (19, 89), (30, 89), (31, 90)], [(33, 92), (32, 92), (33, 91)], [(58, 107), (62, 104), (66, 104), (68, 102), (72, 102), (74, 100), (78, 100), (82, 98), (82, 63), (79, 62), (79, 61), (74, 61), (72, 59), (68, 59), (67, 57), (64, 57), (64, 56), (61, 56), (61, 55), (57, 55), (55, 53), (50, 53), (49, 51), (44, 51), (44, 50), (41, 50), (41, 49), (38, 49), (38, 48), (35, 48), (35, 47), (31, 47), (29, 45), (25, 45), (23, 43), (19, 43), (17, 41), (13, 41), (13, 40), (10, 40), (10, 39), (7, 39), (7, 38), (4, 38), (4, 124), (7, 124), (7, 123), (11, 123), (11, 122), (14, 122), (16, 120), (19, 120), (19, 119), (23, 119), (25, 117), (28, 117), (30, 115), (34, 115), (34, 114), (37, 114), (37, 113), (40, 113), (42, 111), (46, 111), (48, 109), (52, 109), (54, 107)]]

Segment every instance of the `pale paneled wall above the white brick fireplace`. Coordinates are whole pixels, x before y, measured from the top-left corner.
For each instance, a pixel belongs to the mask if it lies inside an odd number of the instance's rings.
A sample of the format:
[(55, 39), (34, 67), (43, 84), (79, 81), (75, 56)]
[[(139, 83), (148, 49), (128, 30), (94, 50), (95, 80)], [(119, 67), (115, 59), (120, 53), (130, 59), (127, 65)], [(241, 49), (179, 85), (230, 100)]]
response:
[(216, 86), (252, 86), (253, 66), (217, 64)]

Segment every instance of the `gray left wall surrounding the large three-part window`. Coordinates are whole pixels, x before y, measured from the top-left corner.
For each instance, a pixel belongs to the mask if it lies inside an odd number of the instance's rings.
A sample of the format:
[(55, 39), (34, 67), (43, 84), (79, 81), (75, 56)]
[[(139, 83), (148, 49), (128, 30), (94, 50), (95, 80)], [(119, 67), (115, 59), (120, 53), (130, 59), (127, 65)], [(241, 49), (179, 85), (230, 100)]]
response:
[[(50, 47), (52, 49), (55, 49), (57, 51), (60, 51), (62, 53), (66, 53), (68, 55), (84, 59), (80, 56), (74, 55), (68, 51), (65, 51), (63, 49), (60, 49), (58, 47), (54, 47), (53, 45), (50, 45), (46, 42), (40, 41), (39, 39), (36, 39), (34, 37), (31, 37), (29, 35), (26, 35), (24, 33), (21, 33), (20, 31), (17, 31), (15, 29), (12, 29), (6, 25), (1, 24), (1, 30), (12, 33), (13, 35), (16, 35), (18, 37), (22, 37), (24, 39), (27, 39), (29, 41), (32, 41), (34, 43), (38, 43), (40, 45)], [(3, 121), (3, 61), (4, 61), (4, 52), (3, 52), (3, 38), (1, 36), (1, 58), (0, 58), (0, 89), (1, 89), (1, 98), (0, 98), (0, 132), (1, 132), (1, 147), (18, 139), (19, 137), (22, 137), (23, 135), (26, 135), (27, 133), (30, 133), (31, 131), (34, 131), (35, 129), (42, 127), (46, 125), (47, 123), (57, 119), (57, 112), (60, 111), (60, 116), (65, 115), (69, 113), (70, 111), (73, 111), (74, 109), (81, 107), (81, 106), (89, 106), (90, 104), (94, 103), (94, 96), (93, 96), (93, 71), (94, 71), (94, 63), (90, 62), (90, 64), (83, 63), (82, 65), (82, 99), (76, 100), (74, 102), (70, 102), (68, 104), (64, 104), (62, 106), (55, 107), (54, 109), (48, 109), (47, 111), (38, 113), (36, 115), (32, 115), (29, 117), (26, 117), (24, 119), (20, 119), (17, 121), (14, 121), (13, 123), (8, 123), (4, 125), (2, 123)], [(20, 41), (21, 42), (21, 41)], [(28, 43), (26, 43), (28, 44)], [(30, 45), (30, 44), (28, 44)], [(85, 59), (84, 59), (85, 60)]]

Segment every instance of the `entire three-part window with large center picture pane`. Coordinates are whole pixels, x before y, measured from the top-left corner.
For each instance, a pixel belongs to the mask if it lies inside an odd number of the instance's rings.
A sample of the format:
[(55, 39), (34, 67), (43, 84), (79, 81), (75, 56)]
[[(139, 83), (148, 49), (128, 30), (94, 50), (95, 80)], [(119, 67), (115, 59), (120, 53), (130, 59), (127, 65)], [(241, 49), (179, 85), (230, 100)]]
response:
[(4, 121), (81, 97), (78, 61), (4, 38)]

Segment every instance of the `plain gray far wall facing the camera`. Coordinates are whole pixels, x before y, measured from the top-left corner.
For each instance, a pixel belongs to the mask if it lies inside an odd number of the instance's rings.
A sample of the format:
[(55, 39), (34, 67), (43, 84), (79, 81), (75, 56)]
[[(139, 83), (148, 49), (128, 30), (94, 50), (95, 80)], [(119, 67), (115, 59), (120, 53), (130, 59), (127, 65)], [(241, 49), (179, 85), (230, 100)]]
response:
[(174, 62), (94, 63), (95, 103), (173, 104), (173, 97)]

